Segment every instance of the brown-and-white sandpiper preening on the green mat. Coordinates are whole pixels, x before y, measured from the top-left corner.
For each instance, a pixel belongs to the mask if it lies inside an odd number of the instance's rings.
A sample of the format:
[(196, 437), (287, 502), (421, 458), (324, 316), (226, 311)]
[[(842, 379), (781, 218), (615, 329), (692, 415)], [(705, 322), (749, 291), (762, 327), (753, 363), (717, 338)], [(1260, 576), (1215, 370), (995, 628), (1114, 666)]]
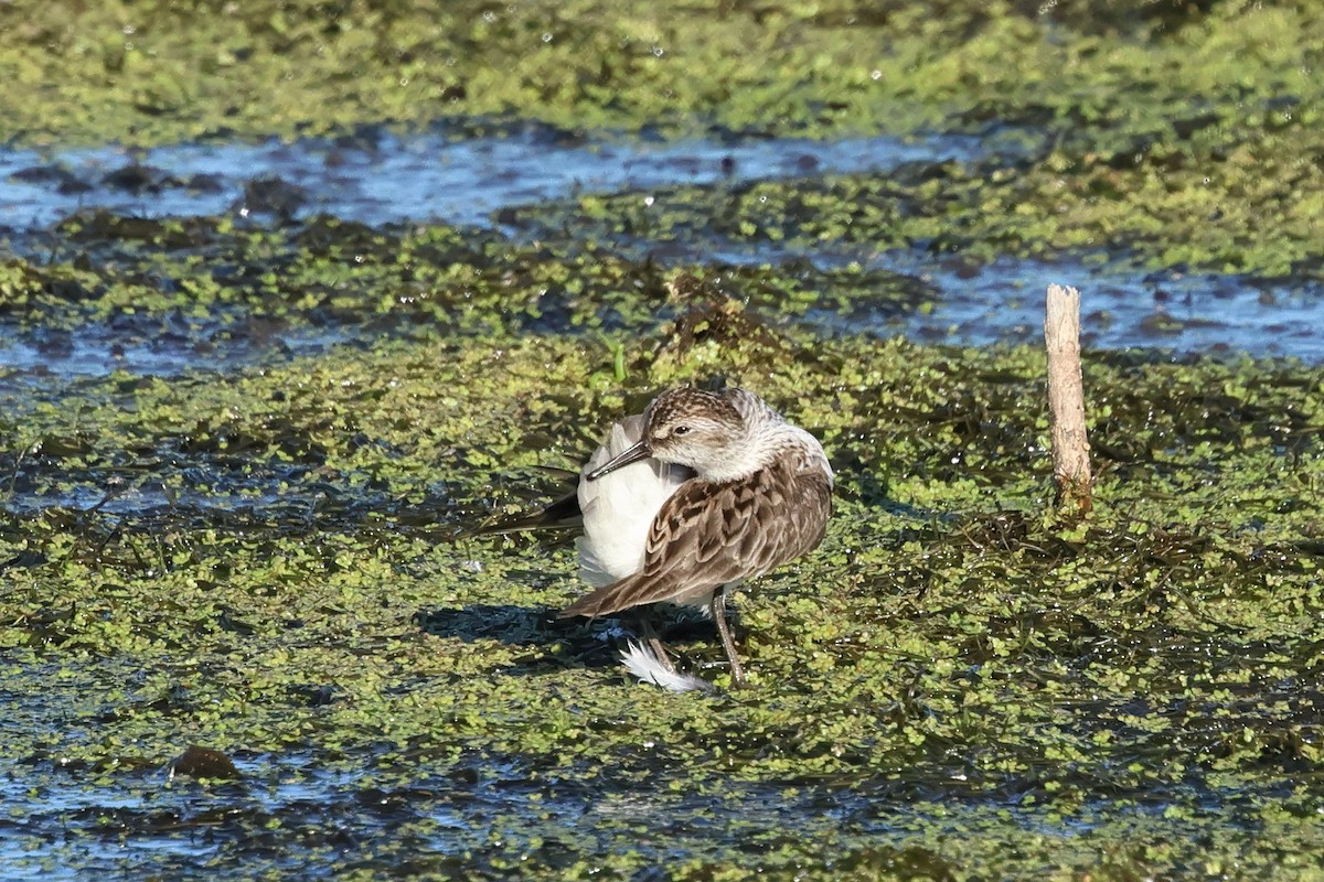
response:
[[(598, 586), (561, 611), (601, 616), (651, 603), (704, 604), (731, 680), (745, 682), (726, 619), (727, 591), (812, 551), (831, 512), (833, 472), (818, 440), (744, 389), (671, 389), (612, 427), (584, 468), (581, 573)], [(637, 676), (671, 689), (653, 640), (625, 653)], [(649, 659), (663, 666), (655, 670)], [(671, 672), (667, 677), (666, 672)]]

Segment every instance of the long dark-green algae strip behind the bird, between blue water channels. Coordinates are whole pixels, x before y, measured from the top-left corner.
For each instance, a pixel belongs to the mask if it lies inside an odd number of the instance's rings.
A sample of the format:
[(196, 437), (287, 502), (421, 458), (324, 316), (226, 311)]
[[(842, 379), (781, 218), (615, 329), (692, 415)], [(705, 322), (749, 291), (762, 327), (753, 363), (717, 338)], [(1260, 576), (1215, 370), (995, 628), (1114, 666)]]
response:
[(788, 319), (812, 309), (849, 317), (859, 304), (904, 315), (932, 296), (912, 278), (858, 266), (665, 267), (605, 245), (328, 217), (269, 226), (93, 213), (40, 245), (0, 266), (0, 315), (21, 328), (110, 321), (214, 349), (289, 329), (365, 339), (569, 331), (600, 335), (617, 373), (638, 357), (630, 333), (704, 296), (677, 288), (678, 278)]

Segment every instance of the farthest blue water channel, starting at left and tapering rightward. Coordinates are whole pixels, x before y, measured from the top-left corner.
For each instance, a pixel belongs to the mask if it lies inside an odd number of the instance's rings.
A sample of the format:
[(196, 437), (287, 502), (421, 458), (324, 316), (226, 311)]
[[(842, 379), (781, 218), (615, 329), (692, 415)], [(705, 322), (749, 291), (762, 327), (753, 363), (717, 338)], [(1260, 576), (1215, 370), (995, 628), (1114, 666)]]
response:
[(503, 138), (373, 131), (343, 141), (177, 144), (50, 155), (0, 149), (5, 223), (32, 231), (87, 208), (139, 217), (257, 212), (249, 181), (297, 188), (290, 214), (369, 225), (442, 221), (490, 226), (503, 208), (674, 184), (867, 172), (915, 160), (969, 159), (973, 138), (688, 140), (569, 136), (530, 127)]

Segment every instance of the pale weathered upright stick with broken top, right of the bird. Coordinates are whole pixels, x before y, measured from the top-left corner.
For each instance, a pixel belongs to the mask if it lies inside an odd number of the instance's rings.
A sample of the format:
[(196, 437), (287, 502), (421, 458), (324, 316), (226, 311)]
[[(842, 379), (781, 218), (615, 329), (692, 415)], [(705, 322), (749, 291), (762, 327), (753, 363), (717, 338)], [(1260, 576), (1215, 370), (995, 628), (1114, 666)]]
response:
[(1049, 349), (1049, 422), (1053, 426), (1053, 479), (1059, 506), (1084, 516), (1094, 508), (1090, 492), (1090, 439), (1084, 430), (1084, 385), (1080, 381), (1080, 292), (1049, 286), (1043, 340)]

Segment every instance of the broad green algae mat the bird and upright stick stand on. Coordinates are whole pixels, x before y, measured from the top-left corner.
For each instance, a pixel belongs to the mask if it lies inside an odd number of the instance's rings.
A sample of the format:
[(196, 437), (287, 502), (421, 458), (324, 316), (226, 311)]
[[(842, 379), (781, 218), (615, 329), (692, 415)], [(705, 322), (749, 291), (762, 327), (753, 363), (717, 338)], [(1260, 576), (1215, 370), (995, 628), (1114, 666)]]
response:
[[(1308, 852), (1319, 369), (1091, 357), (1096, 509), (1061, 526), (1041, 513), (1041, 353), (822, 341), (674, 287), (692, 301), (634, 341), (624, 382), (585, 339), (458, 335), (7, 402), (25, 411), (11, 501), (130, 485), (120, 508), (0, 522), (7, 680), (42, 684), (64, 721), (19, 729), (7, 756), (87, 785), (192, 743), (312, 751), (387, 791), (508, 768), (522, 808), (474, 845), (487, 857), (425, 862), (491, 875), (646, 862), (624, 844), (649, 815), (564, 832), (571, 783), (716, 813), (771, 873), (1262, 874)], [(677, 697), (626, 682), (601, 624), (553, 620), (580, 590), (564, 537), (471, 530), (555, 493), (538, 468), (572, 467), (594, 427), (719, 365), (824, 439), (838, 504), (820, 551), (737, 599), (755, 686)], [(724, 682), (711, 637), (675, 643)], [(797, 791), (850, 822), (792, 832), (724, 803)], [(673, 836), (677, 878), (739, 875), (730, 845)], [(1227, 845), (1173, 845), (1190, 836)]]

